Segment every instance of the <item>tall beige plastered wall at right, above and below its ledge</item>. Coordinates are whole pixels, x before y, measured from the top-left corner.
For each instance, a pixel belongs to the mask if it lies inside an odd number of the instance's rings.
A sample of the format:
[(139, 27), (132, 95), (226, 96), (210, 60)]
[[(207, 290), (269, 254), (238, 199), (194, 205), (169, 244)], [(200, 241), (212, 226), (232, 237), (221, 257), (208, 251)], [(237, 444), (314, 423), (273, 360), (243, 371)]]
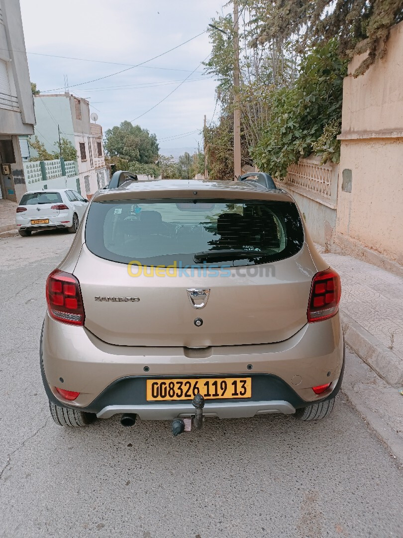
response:
[[(344, 79), (336, 236), (403, 264), (403, 23), (387, 54), (364, 75)], [(351, 192), (343, 170), (351, 170)], [(358, 243), (357, 243), (358, 242)]]

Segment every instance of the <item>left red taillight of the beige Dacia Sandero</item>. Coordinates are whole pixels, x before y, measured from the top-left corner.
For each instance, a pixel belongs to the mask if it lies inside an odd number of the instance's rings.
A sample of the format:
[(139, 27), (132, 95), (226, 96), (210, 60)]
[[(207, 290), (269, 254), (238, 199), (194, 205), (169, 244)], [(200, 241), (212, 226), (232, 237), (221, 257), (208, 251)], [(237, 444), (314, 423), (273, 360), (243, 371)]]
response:
[(46, 302), (54, 320), (84, 325), (84, 306), (80, 282), (70, 273), (55, 269), (46, 281)]

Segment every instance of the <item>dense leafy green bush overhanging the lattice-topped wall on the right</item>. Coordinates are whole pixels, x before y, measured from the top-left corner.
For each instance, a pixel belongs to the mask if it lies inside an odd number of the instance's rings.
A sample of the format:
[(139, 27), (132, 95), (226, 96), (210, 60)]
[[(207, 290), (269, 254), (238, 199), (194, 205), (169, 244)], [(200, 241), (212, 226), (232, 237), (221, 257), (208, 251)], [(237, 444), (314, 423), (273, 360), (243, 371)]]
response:
[(273, 94), (267, 129), (251, 152), (261, 170), (284, 178), (287, 166), (314, 150), (324, 160), (339, 160), (336, 135), (347, 61), (340, 60), (337, 47), (333, 40), (315, 48), (301, 62), (295, 87)]

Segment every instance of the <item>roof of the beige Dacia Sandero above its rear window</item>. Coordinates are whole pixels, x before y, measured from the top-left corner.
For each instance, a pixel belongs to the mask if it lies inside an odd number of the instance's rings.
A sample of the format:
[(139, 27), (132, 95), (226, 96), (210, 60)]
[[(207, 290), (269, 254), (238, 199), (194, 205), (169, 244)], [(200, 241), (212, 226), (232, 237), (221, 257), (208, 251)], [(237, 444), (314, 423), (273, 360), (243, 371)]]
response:
[[(200, 192), (202, 191), (202, 192)], [(119, 200), (119, 199), (136, 199), (136, 198), (157, 198), (178, 196), (185, 197), (188, 195), (197, 195), (212, 198), (214, 196), (222, 197), (228, 195), (236, 198), (237, 194), (241, 197), (257, 197), (264, 199), (284, 196), (290, 201), (290, 196), (281, 189), (268, 189), (257, 183), (257, 181), (211, 181), (196, 179), (157, 179), (148, 181), (126, 181), (116, 189), (99, 190), (92, 197), (92, 201), (102, 200)], [(270, 196), (267, 196), (270, 195)]]

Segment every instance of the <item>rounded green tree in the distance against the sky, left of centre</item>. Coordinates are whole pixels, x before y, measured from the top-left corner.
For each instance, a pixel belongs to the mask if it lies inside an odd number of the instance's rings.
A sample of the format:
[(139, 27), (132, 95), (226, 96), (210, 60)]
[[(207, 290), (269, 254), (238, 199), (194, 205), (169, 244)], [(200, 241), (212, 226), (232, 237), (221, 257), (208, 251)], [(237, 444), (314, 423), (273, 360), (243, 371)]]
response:
[(129, 163), (155, 164), (158, 158), (159, 146), (155, 134), (127, 121), (105, 132), (104, 146), (109, 157), (120, 157)]

